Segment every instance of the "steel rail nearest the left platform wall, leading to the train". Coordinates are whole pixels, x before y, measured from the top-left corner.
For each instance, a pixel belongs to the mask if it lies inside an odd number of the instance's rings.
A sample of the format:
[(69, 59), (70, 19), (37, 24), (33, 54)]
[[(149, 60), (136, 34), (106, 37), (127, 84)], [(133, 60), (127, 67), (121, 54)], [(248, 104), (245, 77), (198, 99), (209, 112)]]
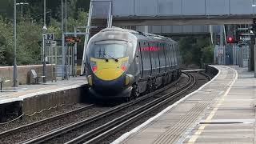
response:
[(45, 124), (46, 122), (52, 122), (52, 121), (54, 121), (56, 119), (59, 119), (59, 118), (65, 118), (66, 116), (68, 116), (70, 114), (77, 114), (81, 111), (90, 109), (92, 106), (94, 106), (94, 104), (90, 104), (88, 106), (83, 106), (79, 109), (71, 110), (71, 111), (63, 113), (63, 114), (58, 114), (58, 115), (50, 117), (50, 118), (45, 118), (45, 119), (42, 119), (38, 122), (32, 122), (32, 123), (29, 123), (29, 124), (24, 125), (24, 126), (19, 126), (17, 128), (11, 129), (11, 130), (3, 131), (2, 133), (0, 133), (0, 137), (5, 137), (5, 136), (10, 135), (10, 134), (15, 134), (15, 133), (18, 133), (22, 130), (29, 130), (31, 127), (39, 126), (39, 125)]

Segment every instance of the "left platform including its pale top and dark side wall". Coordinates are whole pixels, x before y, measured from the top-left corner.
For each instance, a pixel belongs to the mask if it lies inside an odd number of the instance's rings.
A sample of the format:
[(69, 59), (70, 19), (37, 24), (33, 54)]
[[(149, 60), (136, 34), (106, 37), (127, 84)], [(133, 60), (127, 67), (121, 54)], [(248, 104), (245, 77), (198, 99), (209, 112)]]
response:
[(4, 87), (0, 92), (0, 112), (8, 109), (34, 114), (50, 107), (77, 103), (81, 101), (86, 86), (86, 77), (78, 76), (57, 82), (20, 85), (17, 88)]

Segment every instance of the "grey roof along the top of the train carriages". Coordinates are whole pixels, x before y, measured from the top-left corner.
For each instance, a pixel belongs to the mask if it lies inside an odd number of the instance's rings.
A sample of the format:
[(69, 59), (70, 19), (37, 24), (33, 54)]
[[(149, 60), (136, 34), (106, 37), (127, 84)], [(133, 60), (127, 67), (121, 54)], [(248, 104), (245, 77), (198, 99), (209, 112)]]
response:
[(111, 28), (103, 29), (100, 32), (106, 32), (106, 31), (126, 32), (126, 33), (130, 33), (130, 34), (134, 34), (134, 36), (137, 37), (138, 39), (150, 39), (150, 40), (155, 40), (155, 41), (169, 41), (169, 42), (177, 43), (173, 39), (166, 38), (166, 37), (161, 36), (161, 35), (149, 34), (149, 33), (144, 33), (144, 32), (135, 31), (135, 30), (122, 29), (120, 27), (114, 27), (113, 26)]

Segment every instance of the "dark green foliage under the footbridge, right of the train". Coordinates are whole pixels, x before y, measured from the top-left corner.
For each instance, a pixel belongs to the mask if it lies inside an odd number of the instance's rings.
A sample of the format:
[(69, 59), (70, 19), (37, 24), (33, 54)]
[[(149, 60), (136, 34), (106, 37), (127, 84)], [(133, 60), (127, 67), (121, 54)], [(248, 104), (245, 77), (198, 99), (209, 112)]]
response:
[(209, 46), (210, 39), (206, 36), (187, 36), (178, 41), (186, 66), (191, 64), (202, 66), (203, 63), (213, 62), (214, 48)]

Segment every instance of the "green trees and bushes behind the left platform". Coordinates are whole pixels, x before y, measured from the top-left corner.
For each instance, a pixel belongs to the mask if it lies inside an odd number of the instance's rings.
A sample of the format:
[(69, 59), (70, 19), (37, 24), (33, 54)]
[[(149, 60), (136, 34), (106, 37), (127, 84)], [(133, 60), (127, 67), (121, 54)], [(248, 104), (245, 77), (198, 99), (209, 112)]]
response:
[[(28, 2), (17, 6), (17, 62), (18, 65), (40, 63), (40, 46), (43, 26), (43, 0), (17, 0)], [(65, 2), (65, 1), (63, 1)], [(86, 25), (86, 11), (89, 0), (67, 0), (68, 31), (74, 31), (74, 26)], [(47, 32), (54, 33), (55, 39), (61, 38), (61, 0), (46, 0)], [(2, 0), (0, 5), (0, 66), (12, 66), (14, 58), (14, 0)], [(82, 46), (78, 46), (82, 51)], [(79, 52), (78, 52), (79, 53)]]

